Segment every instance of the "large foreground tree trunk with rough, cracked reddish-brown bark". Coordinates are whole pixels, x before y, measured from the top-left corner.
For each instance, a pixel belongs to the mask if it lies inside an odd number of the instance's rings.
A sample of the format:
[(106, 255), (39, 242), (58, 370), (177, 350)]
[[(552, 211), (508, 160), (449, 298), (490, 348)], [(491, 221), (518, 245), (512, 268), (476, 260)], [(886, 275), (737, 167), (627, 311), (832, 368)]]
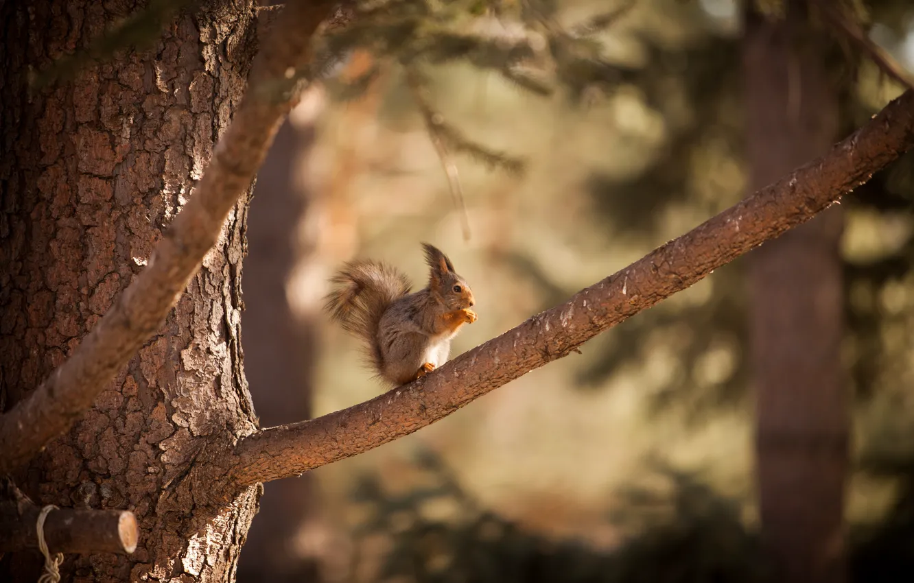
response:
[[(79, 344), (194, 196), (244, 90), (252, 4), (204, 3), (175, 17), (148, 51), (124, 50), (73, 81), (29, 90), (29, 69), (85, 47), (142, 5), (0, 3), (5, 410)], [(234, 578), (260, 488), (218, 504), (184, 478), (213, 444), (256, 428), (239, 347), (247, 198), (161, 332), (67, 435), (14, 476), (37, 504), (136, 514), (133, 555), (66, 557), (64, 580)], [(7, 555), (0, 579), (36, 580), (38, 559)]]

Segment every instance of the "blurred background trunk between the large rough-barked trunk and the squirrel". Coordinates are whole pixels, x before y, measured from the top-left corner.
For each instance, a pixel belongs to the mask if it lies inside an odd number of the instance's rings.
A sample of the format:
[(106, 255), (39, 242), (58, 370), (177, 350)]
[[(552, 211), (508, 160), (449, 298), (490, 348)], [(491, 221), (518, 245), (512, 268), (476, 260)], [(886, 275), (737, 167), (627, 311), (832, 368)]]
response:
[[(320, 271), (322, 261), (316, 228), (322, 207), (308, 180), (308, 161), (323, 103), (322, 92), (310, 90), (282, 124), (250, 205), (242, 343), (260, 427), (313, 416), (320, 298), (309, 293), (294, 302), (292, 288), (296, 273)], [(320, 493), (314, 476), (266, 483), (264, 493), (239, 561), (239, 581), (321, 580)]]

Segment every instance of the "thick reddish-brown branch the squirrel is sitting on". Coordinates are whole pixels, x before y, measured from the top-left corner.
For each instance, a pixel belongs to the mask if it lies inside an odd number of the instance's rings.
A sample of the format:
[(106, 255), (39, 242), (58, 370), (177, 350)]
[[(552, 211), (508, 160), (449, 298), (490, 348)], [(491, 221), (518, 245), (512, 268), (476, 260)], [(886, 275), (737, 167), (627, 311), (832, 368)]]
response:
[(908, 91), (824, 157), (429, 376), (241, 440), (227, 460), (229, 479), (241, 487), (298, 475), (446, 417), (809, 220), (912, 147), (914, 92)]

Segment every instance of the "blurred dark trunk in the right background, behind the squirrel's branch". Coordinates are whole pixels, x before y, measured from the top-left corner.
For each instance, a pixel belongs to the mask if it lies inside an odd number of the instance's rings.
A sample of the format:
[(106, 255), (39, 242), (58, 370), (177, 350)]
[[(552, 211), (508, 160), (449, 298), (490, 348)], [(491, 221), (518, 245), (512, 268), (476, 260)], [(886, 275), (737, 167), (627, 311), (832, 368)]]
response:
[[(825, 41), (801, 4), (789, 4), (785, 21), (751, 11), (747, 18), (750, 190), (824, 154), (836, 138), (837, 90), (824, 69)], [(762, 538), (774, 580), (785, 583), (845, 578), (841, 232), (841, 209), (832, 207), (749, 260)]]

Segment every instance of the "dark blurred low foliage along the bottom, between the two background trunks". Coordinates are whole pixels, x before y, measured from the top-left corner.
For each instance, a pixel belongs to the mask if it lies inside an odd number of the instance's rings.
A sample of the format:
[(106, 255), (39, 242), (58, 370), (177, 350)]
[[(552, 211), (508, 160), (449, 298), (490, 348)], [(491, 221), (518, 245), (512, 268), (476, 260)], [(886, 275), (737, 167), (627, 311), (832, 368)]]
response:
[[(417, 458), (434, 485), (397, 494), (363, 475), (353, 496), (369, 508), (356, 542), (391, 538), (378, 581), (753, 583), (765, 573), (758, 543), (740, 522), (739, 504), (662, 463), (652, 471), (670, 484), (672, 495), (634, 486), (620, 493), (620, 510), (608, 520), (631, 537), (610, 553), (537, 535), (493, 514), (461, 488), (439, 457), (420, 451)], [(432, 504), (450, 506), (452, 517), (430, 514)]]

